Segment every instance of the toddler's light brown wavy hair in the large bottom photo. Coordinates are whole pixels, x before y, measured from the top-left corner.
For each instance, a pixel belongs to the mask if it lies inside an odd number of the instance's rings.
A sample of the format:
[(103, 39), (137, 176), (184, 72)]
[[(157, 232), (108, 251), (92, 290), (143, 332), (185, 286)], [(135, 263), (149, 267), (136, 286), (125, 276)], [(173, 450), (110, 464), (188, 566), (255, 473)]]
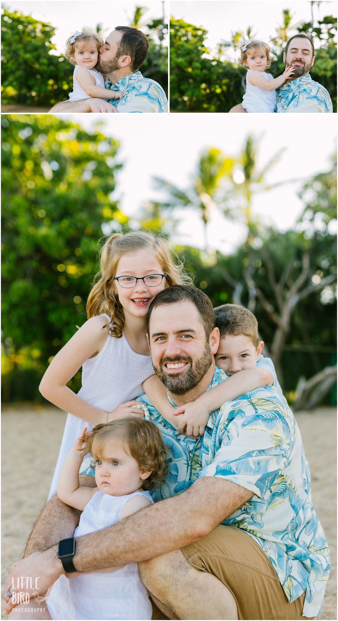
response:
[(92, 468), (95, 468), (95, 461), (104, 458), (105, 445), (109, 440), (121, 443), (123, 450), (137, 461), (140, 468), (150, 471), (139, 489), (149, 491), (165, 482), (168, 474), (167, 453), (155, 423), (131, 416), (96, 425), (86, 433), (87, 447), (82, 450), (83, 456), (92, 456)]

